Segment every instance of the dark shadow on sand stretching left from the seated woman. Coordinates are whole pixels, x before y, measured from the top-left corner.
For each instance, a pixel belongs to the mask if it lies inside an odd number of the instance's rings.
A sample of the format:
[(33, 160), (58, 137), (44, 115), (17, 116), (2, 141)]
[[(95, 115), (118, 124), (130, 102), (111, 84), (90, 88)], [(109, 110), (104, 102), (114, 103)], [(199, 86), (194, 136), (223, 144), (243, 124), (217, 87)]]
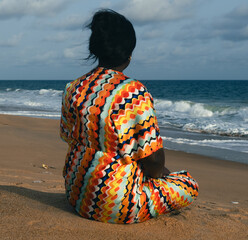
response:
[(0, 196), (2, 191), (18, 194), (20, 196), (38, 201), (48, 206), (52, 206), (66, 212), (76, 214), (73, 208), (69, 205), (64, 193), (40, 192), (24, 187), (9, 186), (9, 185), (0, 186)]

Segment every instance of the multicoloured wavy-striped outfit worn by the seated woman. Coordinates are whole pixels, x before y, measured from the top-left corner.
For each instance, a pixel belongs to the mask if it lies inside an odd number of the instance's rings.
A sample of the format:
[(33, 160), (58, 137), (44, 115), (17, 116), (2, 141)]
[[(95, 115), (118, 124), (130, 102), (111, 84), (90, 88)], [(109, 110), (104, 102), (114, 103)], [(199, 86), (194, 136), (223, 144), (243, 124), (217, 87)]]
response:
[(143, 222), (189, 205), (198, 185), (186, 171), (145, 177), (139, 159), (163, 147), (153, 99), (123, 73), (97, 67), (67, 84), (60, 135), (70, 204), (88, 219)]

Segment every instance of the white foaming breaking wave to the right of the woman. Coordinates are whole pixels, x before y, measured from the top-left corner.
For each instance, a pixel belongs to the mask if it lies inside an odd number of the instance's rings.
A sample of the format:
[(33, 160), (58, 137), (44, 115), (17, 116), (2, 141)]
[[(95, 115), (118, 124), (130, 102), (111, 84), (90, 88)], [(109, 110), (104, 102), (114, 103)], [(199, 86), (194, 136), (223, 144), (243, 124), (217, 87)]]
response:
[(162, 126), (224, 136), (248, 136), (248, 107), (155, 99)]

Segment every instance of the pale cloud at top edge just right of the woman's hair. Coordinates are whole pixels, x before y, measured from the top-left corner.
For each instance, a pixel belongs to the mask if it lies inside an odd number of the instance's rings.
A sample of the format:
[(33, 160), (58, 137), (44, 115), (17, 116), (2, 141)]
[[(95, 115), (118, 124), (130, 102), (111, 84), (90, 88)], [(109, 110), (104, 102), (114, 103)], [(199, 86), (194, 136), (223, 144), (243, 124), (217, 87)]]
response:
[(195, 0), (126, 0), (119, 5), (120, 12), (133, 22), (145, 25), (192, 16)]

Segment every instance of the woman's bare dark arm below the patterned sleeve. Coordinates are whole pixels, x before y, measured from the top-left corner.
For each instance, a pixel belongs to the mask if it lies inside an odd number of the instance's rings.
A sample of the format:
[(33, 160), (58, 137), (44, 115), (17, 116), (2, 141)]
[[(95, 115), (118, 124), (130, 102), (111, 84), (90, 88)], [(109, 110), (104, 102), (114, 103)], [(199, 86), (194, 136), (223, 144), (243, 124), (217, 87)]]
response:
[(139, 160), (144, 175), (152, 178), (161, 178), (170, 174), (170, 171), (164, 166), (164, 149), (160, 148), (148, 157)]

